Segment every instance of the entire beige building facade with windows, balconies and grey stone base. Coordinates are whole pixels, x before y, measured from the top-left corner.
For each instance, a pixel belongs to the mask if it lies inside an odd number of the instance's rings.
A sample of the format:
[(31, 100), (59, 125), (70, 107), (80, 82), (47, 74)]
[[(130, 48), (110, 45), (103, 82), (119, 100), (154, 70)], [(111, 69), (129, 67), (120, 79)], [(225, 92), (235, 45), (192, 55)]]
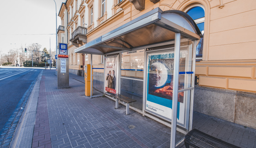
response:
[[(194, 110), (256, 128), (255, 0), (67, 0), (59, 12), (58, 41), (68, 44), (70, 72), (83, 75), (83, 65), (91, 64), (89, 54), (74, 52), (77, 47), (155, 8), (187, 13), (203, 34)], [(137, 99), (131, 106), (142, 110), (144, 50), (122, 53), (121, 62), (121, 93)], [(104, 68), (103, 56), (93, 55), (92, 64)], [(94, 77), (97, 90), (103, 90), (103, 79)]]

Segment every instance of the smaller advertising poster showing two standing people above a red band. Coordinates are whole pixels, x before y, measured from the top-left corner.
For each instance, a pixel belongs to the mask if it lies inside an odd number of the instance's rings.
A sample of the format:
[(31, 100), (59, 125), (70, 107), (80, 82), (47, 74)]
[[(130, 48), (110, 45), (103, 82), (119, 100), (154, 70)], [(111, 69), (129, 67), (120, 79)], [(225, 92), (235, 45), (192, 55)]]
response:
[(117, 92), (117, 56), (105, 57), (105, 92), (118, 93)]

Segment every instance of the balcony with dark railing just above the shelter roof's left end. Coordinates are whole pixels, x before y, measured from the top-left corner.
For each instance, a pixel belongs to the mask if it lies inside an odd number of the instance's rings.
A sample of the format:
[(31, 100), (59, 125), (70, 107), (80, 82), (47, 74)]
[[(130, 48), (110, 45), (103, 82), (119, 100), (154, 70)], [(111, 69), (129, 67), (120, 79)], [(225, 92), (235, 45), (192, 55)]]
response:
[(72, 42), (72, 44), (76, 47), (79, 47), (80, 45), (84, 45), (87, 43), (87, 28), (79, 26), (75, 29), (74, 32), (71, 34), (71, 39), (69, 41)]

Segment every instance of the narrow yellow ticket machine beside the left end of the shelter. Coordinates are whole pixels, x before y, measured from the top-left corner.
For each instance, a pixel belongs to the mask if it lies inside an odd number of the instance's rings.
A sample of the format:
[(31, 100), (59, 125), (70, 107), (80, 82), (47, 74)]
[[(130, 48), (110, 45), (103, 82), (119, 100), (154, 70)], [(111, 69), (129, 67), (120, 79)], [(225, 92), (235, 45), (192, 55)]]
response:
[(85, 80), (85, 95), (90, 96), (90, 88), (93, 88), (93, 86), (90, 87), (90, 81), (91, 81), (91, 65), (86, 64), (84, 65), (84, 80)]

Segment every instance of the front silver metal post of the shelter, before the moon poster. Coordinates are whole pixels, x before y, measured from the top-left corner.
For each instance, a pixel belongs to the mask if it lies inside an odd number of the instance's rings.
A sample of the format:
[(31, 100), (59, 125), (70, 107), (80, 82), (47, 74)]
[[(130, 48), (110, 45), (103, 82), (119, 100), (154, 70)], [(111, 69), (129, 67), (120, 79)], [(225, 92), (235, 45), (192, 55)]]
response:
[(172, 96), (172, 128), (171, 128), (171, 148), (175, 148), (176, 126), (177, 126), (177, 104), (179, 87), (179, 64), (180, 64), (180, 42), (181, 33), (175, 33), (174, 41), (174, 71), (173, 71), (173, 96)]

